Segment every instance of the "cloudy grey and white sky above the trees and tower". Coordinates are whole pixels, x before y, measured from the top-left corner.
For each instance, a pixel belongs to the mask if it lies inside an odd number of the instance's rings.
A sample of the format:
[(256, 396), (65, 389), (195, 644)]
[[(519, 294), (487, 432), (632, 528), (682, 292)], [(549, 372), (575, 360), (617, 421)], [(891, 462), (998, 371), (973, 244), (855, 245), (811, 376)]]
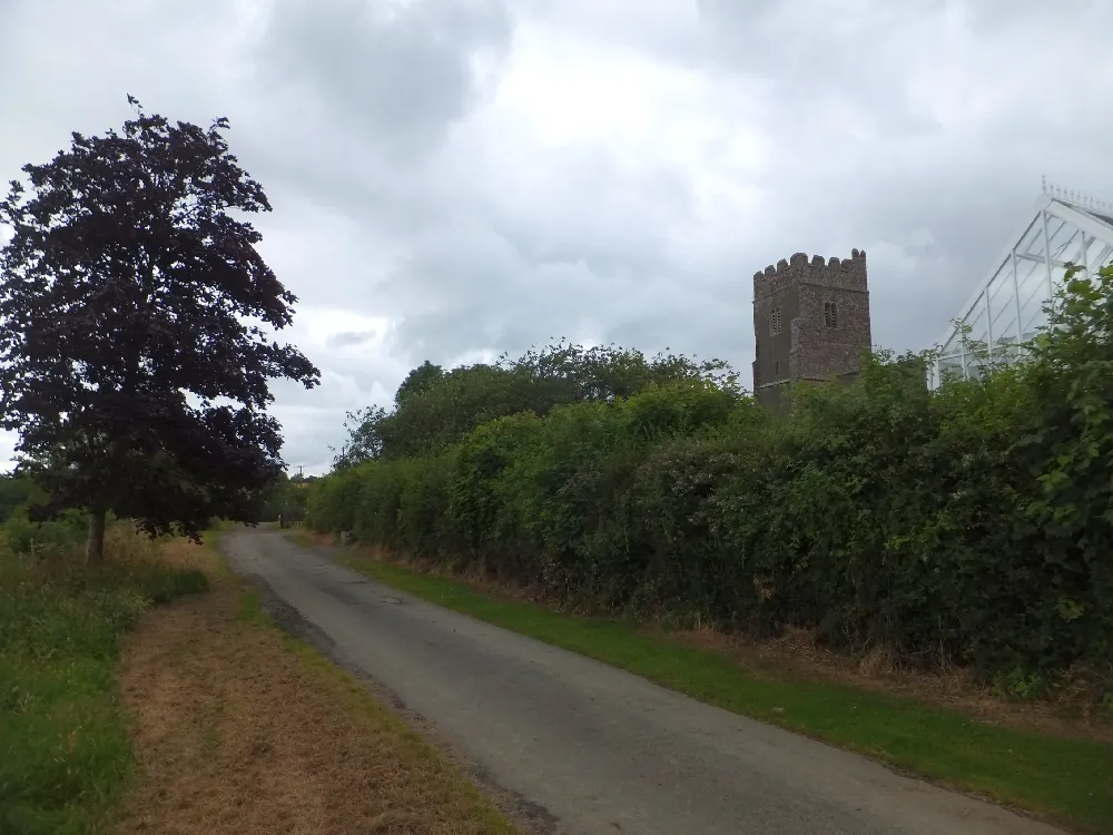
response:
[[(0, 181), (73, 130), (227, 117), (321, 369), (283, 455), (410, 369), (560, 337), (727, 360), (752, 276), (867, 252), (873, 334), (935, 344), (1041, 177), (1113, 200), (1113, 3), (0, 0)], [(0, 434), (0, 463), (14, 438)]]

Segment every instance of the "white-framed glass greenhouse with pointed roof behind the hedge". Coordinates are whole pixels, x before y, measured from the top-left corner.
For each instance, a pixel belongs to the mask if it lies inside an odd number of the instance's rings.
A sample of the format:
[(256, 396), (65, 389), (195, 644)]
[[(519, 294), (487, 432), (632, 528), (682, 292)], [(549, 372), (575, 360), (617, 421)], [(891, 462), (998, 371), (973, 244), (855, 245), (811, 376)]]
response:
[(1113, 259), (1113, 206), (1044, 187), (1032, 214), (974, 296), (939, 340), (943, 353), (929, 373), (934, 389), (944, 376), (975, 376), (982, 361), (964, 345), (981, 343), (994, 362), (1015, 362), (1022, 345), (1046, 322), (1044, 303), (1062, 285), (1067, 264), (1094, 274)]

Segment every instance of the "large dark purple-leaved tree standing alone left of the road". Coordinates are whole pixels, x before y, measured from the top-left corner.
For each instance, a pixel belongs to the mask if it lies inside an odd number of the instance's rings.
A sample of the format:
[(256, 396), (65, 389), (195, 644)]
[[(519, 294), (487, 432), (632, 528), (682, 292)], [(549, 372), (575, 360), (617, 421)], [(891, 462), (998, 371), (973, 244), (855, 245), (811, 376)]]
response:
[(283, 469), (269, 381), (319, 381), (273, 340), (297, 299), (243, 219), (270, 204), (228, 121), (171, 125), (128, 101), (121, 132), (75, 132), (0, 203), (0, 425), (43, 515), (88, 513), (90, 561), (109, 511), (195, 539), (215, 515), (256, 521)]

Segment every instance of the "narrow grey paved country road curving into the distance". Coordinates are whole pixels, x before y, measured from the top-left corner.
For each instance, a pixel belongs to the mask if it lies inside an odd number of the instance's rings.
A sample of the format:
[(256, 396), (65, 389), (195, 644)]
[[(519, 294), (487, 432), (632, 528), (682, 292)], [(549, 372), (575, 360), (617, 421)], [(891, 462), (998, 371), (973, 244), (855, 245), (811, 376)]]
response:
[(221, 550), (569, 835), (1051, 835), (1050, 826), (411, 598), (280, 533)]

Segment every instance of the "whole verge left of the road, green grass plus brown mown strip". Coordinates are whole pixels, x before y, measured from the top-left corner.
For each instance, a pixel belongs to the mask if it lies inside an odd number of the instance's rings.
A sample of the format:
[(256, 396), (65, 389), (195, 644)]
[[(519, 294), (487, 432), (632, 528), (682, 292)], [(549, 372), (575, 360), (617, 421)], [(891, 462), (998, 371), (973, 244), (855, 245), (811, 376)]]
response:
[(2, 503), (12, 481), (0, 478), (0, 833), (514, 831), (279, 629), (213, 547), (110, 521), (90, 568), (85, 520), (28, 522)]

